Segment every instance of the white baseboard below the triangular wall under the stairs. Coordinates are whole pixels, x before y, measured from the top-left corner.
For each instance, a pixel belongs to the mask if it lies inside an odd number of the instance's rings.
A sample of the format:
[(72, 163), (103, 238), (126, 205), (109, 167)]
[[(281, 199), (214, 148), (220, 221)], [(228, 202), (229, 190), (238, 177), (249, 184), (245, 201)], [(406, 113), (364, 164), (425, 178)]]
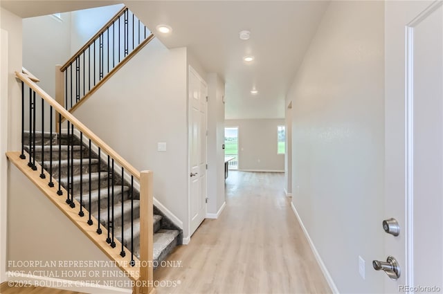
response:
[[(71, 281), (69, 279), (56, 279), (53, 277), (40, 277), (37, 275), (26, 275), (24, 273), (16, 273), (8, 271), (9, 282), (18, 282), (31, 284), (33, 286), (44, 286), (73, 292), (91, 293), (91, 294), (129, 294), (132, 293), (130, 288), (117, 288), (111, 286), (103, 286), (99, 284), (82, 283), (81, 281)], [(114, 281), (113, 281), (114, 282)], [(124, 283), (125, 281), (123, 281)], [(128, 286), (132, 283), (128, 279)]]

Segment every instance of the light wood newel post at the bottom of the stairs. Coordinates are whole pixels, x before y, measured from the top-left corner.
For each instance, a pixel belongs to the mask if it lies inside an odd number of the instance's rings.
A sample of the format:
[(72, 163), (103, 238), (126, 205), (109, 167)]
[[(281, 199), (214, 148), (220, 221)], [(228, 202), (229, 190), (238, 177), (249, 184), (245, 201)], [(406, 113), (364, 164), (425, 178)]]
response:
[[(141, 294), (155, 293), (152, 264), (154, 224), (153, 224), (153, 172), (140, 173), (140, 284)], [(134, 289), (134, 293), (137, 293)]]

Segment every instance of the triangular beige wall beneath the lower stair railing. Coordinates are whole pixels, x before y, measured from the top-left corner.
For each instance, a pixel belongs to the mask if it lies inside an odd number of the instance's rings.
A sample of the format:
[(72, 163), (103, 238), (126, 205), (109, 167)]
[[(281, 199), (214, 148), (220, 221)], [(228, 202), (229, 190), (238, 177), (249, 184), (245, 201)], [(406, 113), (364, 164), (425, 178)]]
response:
[[(8, 270), (24, 271), (24, 274), (43, 277), (48, 277), (48, 272), (38, 271), (48, 270), (57, 279), (73, 281), (100, 283), (130, 281), (128, 277), (111, 276), (121, 273), (116, 266), (39, 267), (21, 266), (17, 263), (17, 261), (56, 261), (58, 265), (59, 261), (109, 261), (109, 258), (15, 165), (10, 163), (9, 170)], [(98, 270), (99, 274), (96, 275), (95, 272), (90, 274), (90, 270)], [(64, 271), (65, 273), (73, 271), (80, 275), (86, 273), (86, 276), (66, 277)], [(129, 287), (122, 288), (130, 288), (130, 284)]]

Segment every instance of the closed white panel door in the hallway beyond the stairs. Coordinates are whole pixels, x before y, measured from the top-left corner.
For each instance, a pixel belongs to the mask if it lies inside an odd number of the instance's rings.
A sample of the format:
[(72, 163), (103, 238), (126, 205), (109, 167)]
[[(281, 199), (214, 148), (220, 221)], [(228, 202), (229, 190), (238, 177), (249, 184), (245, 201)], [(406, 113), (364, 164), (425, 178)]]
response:
[(206, 82), (189, 68), (190, 235), (206, 216)]

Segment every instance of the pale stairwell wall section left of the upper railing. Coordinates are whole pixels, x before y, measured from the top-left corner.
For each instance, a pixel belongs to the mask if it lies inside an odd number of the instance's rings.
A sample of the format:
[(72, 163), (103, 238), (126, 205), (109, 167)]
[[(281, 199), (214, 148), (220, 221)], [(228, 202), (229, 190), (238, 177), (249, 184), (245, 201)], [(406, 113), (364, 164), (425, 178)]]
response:
[[(71, 57), (71, 13), (23, 19), (23, 66), (55, 98), (55, 65)], [(46, 110), (46, 109), (45, 109)]]

